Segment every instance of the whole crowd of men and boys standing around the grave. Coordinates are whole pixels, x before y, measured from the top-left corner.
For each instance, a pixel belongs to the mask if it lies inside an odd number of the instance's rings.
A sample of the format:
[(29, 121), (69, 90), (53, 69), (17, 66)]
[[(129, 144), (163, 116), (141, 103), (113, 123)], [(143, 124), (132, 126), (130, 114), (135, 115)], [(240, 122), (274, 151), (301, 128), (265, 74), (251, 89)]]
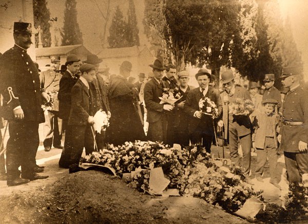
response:
[[(255, 169), (259, 181), (263, 181), (268, 158), (271, 183), (279, 187), (278, 147), (284, 153), (290, 182), (301, 182), (302, 176), (308, 173), (308, 100), (300, 84), (301, 72), (296, 67), (283, 70), (284, 89), (281, 91), (274, 87), (274, 74), (265, 74), (263, 95), (256, 82), (250, 82), (247, 87), (237, 85), (230, 69), (221, 73), (221, 91), (215, 85), (215, 76), (206, 68), (195, 74), (199, 86), (194, 88), (188, 85), (187, 71), (177, 72), (174, 66), (166, 67), (160, 60), (149, 65), (152, 68), (149, 80), (140, 73), (137, 82), (129, 79), (133, 67), (124, 61), (119, 74), (110, 77), (107, 85), (99, 73), (102, 60), (93, 54), (84, 62), (74, 54), (68, 55), (65, 71), (59, 70), (60, 57), (52, 55), (50, 69), (39, 74), (27, 54), (32, 43), (31, 24), (14, 23), (13, 35), (15, 45), (0, 58), (1, 116), (8, 121), (10, 134), (6, 171), (3, 154), (0, 155), (0, 178), (6, 172), (8, 186), (48, 178), (37, 174), (43, 172), (44, 167), (35, 162), (38, 124), (44, 121), (45, 151), (50, 151), (52, 146), (63, 148), (59, 161), (63, 168), (78, 164), (83, 148), (90, 154), (106, 143), (121, 145), (134, 140), (182, 146), (200, 144), (210, 153), (215, 132), (224, 130), (222, 138), (229, 144), (230, 159), (242, 166), (247, 182), (251, 182), (248, 175), (252, 148), (258, 155)], [(180, 100), (162, 104), (160, 97), (166, 88), (178, 88)], [(218, 108), (219, 116), (215, 120), (200, 111), (199, 101), (205, 97)], [(229, 105), (238, 98), (251, 100), (255, 105), (253, 113), (230, 114)], [(98, 111), (104, 111), (109, 119), (106, 131), (93, 130), (93, 116)], [(146, 122), (148, 130), (144, 132)], [(242, 158), (238, 153), (239, 144)]]

